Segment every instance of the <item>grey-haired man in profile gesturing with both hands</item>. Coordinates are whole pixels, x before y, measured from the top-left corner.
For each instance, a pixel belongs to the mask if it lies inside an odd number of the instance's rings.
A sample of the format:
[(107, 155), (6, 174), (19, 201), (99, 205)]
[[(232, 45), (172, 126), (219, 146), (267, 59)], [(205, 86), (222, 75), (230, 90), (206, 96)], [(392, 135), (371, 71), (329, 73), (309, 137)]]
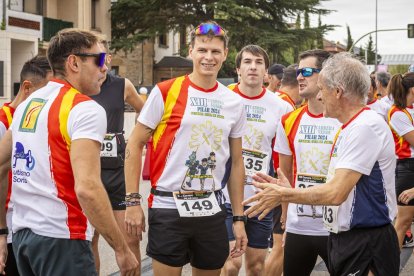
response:
[(324, 205), (323, 223), (330, 233), (328, 270), (333, 276), (399, 275), (400, 252), (392, 225), (397, 214), (395, 147), (387, 123), (366, 107), (369, 86), (366, 67), (350, 53), (324, 62), (317, 97), (324, 116), (343, 124), (332, 145), (326, 184), (291, 189), (283, 173), (279, 180), (263, 175), (266, 179), (256, 179), (272, 184), (255, 183), (263, 191), (246, 201), (258, 201), (246, 213), (264, 211), (259, 217), (280, 202)]

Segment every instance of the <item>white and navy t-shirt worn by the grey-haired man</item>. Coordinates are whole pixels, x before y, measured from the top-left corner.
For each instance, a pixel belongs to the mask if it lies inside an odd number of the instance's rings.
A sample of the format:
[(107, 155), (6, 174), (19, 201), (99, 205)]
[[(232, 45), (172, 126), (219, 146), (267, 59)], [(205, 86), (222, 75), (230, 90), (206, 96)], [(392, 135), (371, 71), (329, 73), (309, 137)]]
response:
[(334, 144), (328, 181), (336, 169), (362, 174), (347, 199), (324, 207), (325, 227), (331, 232), (378, 227), (397, 214), (395, 151), (387, 123), (375, 111), (364, 109), (342, 126)]

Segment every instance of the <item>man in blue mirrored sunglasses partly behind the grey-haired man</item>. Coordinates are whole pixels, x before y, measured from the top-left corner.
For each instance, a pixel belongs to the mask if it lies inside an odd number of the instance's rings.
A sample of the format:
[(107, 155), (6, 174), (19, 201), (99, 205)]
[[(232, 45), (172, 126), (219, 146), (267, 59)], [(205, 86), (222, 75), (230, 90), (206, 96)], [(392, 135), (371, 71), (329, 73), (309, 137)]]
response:
[[(323, 50), (301, 53), (296, 76), (299, 96), (308, 104), (282, 117), (274, 151), (279, 153), (280, 170), (295, 189), (325, 183), (329, 154), (340, 127), (336, 119), (324, 118), (322, 102), (316, 96), (322, 63), (330, 56)], [(309, 275), (319, 256), (327, 263), (328, 231), (323, 227), (322, 207), (289, 203), (286, 214), (286, 238), (283, 274)], [(287, 212), (287, 213), (286, 213)], [(301, 265), (297, 264), (301, 260)]]

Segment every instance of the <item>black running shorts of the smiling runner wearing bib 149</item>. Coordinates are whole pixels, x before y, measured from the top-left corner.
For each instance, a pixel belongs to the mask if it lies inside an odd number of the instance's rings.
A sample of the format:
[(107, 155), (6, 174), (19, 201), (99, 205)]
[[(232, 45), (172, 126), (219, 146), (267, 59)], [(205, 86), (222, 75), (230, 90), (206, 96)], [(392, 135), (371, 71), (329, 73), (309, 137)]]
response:
[(148, 209), (147, 255), (162, 264), (198, 269), (223, 267), (229, 256), (226, 211), (208, 217), (180, 217), (176, 209)]

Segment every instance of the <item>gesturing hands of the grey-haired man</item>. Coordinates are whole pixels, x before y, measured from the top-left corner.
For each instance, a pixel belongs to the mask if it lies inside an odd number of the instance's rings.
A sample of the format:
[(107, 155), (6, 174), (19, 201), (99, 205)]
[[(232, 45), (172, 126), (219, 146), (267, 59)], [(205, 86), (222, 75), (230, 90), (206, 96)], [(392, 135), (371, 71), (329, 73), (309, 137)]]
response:
[(283, 187), (290, 188), (291, 186), (280, 169), (277, 170), (277, 173), (279, 179), (275, 179), (271, 176), (266, 176), (265, 174), (261, 173), (253, 176), (255, 180), (271, 181), (271, 183), (253, 181), (253, 185), (259, 189), (262, 189), (262, 191), (243, 201), (243, 205), (248, 205), (249, 203), (256, 201), (255, 205), (251, 206), (244, 212), (246, 216), (251, 218), (260, 214), (259, 220), (261, 220), (269, 212), (271, 212), (273, 208), (280, 204)]

